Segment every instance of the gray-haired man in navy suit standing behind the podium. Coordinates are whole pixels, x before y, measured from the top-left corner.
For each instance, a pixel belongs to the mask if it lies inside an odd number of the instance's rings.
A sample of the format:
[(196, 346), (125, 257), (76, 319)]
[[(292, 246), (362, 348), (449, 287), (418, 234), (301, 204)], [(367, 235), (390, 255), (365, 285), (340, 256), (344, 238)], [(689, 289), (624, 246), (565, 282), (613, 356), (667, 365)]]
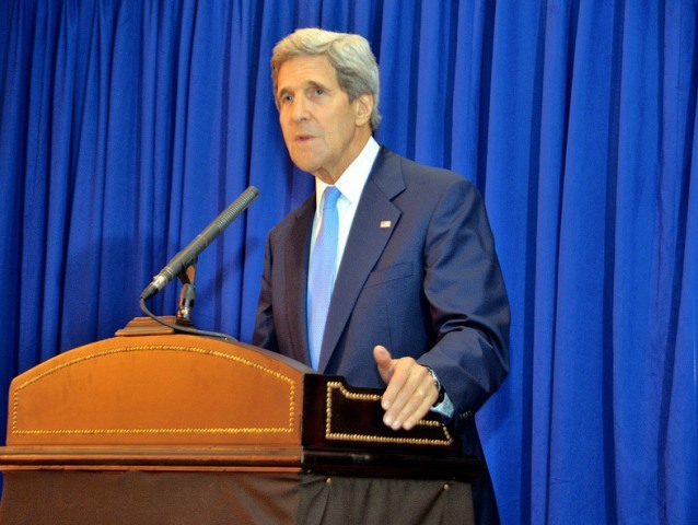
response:
[(300, 30), (271, 66), (287, 148), (316, 191), (269, 234), (253, 343), (386, 387), (393, 429), (438, 411), (477, 454), (474, 413), (507, 376), (510, 323), (478, 191), (375, 142), (379, 72), (364, 38)]

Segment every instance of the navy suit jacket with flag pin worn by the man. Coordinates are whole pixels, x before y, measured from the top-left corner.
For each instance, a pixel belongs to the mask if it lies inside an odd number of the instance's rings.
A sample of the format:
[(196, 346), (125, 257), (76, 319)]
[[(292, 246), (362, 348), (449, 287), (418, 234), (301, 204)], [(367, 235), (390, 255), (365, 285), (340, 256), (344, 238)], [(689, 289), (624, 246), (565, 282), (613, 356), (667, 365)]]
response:
[[(252, 341), (306, 364), (314, 211), (313, 195), (269, 233)], [(456, 431), (470, 433), (473, 415), (509, 371), (509, 323), (477, 189), (458, 174), (381, 148), (337, 272), (318, 371), (383, 388), (373, 347), (410, 355), (441, 381)]]

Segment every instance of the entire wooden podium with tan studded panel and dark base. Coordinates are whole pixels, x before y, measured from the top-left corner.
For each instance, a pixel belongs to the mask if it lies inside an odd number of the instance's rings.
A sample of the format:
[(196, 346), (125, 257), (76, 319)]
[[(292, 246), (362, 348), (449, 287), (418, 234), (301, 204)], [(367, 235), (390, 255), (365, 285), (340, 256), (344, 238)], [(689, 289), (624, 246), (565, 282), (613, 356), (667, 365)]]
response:
[(428, 417), (243, 343), (115, 337), (15, 377), (5, 523), (467, 523), (479, 463)]

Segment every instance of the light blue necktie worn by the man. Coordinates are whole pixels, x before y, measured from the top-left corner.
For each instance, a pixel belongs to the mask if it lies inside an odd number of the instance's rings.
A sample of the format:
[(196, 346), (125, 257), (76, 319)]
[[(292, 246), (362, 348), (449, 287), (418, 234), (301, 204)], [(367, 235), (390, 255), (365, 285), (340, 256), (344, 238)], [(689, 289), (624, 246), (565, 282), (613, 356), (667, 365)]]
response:
[(319, 364), (325, 322), (335, 285), (337, 231), (339, 230), (337, 199), (340, 196), (341, 194), (334, 186), (325, 188), (323, 222), (317, 233), (317, 240), (315, 240), (313, 257), (307, 271), (307, 341), (311, 347), (311, 364), (315, 370)]

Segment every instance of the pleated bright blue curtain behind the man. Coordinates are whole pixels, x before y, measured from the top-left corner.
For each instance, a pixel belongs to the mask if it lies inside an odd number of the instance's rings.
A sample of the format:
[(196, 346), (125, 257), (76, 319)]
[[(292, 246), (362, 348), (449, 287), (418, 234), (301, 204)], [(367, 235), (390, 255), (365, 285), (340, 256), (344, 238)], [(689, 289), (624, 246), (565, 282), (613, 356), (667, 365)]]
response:
[(377, 139), (486, 199), (513, 312), (511, 375), (477, 416), (503, 523), (698, 523), (697, 20), (695, 0), (3, 1), (0, 406), (141, 315), (152, 275), (255, 185), (194, 311), (249, 340), (267, 231), (312, 190), (271, 48), (358, 32)]

